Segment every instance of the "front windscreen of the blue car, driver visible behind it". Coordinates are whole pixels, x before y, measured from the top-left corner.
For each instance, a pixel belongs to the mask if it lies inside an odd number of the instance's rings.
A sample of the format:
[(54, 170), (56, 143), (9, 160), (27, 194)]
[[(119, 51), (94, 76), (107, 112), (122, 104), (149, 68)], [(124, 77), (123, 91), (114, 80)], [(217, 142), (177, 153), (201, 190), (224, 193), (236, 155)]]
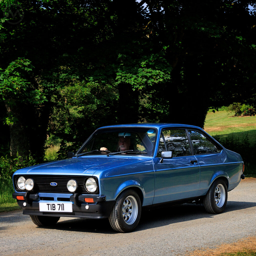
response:
[(152, 156), (155, 140), (156, 129), (154, 128), (104, 128), (95, 131), (76, 155)]

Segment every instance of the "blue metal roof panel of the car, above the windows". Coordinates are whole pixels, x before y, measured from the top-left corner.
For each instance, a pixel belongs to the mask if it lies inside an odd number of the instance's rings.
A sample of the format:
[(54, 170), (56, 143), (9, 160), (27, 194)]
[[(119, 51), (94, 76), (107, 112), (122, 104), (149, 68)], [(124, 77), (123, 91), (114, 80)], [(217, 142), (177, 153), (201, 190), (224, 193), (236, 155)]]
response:
[(178, 123), (139, 123), (139, 124), (115, 124), (115, 125), (108, 125), (108, 126), (102, 126), (99, 129), (102, 128), (116, 128), (116, 127), (154, 127), (156, 129), (162, 129), (166, 127), (188, 127), (188, 128), (197, 128), (202, 130), (198, 126), (189, 125), (189, 124), (178, 124)]

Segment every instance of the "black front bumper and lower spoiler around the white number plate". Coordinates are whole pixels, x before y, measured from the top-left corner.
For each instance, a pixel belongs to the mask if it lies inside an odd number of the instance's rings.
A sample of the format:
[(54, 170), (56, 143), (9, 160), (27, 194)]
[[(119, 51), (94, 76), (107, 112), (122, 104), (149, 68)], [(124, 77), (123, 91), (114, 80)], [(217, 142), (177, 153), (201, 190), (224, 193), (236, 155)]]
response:
[[(22, 196), (24, 200), (18, 200), (17, 196)], [(54, 194), (33, 194), (13, 193), (13, 198), (17, 199), (17, 203), (26, 215), (44, 215), (44, 216), (60, 216), (60, 217), (82, 217), (89, 219), (108, 218), (115, 204), (115, 201), (106, 201), (104, 195), (79, 195), (77, 193), (70, 195), (62, 195), (60, 200)], [(69, 196), (69, 197), (67, 197)], [(84, 198), (93, 198), (93, 203), (86, 203)], [(49, 200), (50, 199), (50, 200)], [(44, 212), (39, 211), (39, 202), (60, 203), (64, 201), (72, 201), (72, 212)], [(25, 203), (25, 204), (24, 204)]]

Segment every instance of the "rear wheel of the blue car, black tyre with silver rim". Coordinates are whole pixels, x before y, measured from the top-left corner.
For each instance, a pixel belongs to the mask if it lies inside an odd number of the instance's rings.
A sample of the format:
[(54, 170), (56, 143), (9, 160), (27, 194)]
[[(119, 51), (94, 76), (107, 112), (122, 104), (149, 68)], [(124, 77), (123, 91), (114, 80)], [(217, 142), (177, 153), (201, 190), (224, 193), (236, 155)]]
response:
[(204, 207), (207, 212), (218, 214), (224, 211), (227, 200), (227, 185), (223, 179), (217, 179), (212, 183), (204, 198)]

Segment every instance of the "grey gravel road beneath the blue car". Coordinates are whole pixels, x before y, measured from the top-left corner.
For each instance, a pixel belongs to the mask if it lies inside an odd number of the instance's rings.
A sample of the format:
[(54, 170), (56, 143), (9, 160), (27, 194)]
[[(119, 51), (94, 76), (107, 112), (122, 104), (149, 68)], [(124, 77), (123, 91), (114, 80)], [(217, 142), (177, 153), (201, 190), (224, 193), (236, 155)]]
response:
[(183, 204), (143, 211), (132, 233), (115, 233), (108, 220), (60, 218), (37, 227), (22, 211), (0, 213), (0, 255), (184, 255), (256, 236), (256, 179), (228, 193), (225, 212), (212, 215), (201, 205)]

